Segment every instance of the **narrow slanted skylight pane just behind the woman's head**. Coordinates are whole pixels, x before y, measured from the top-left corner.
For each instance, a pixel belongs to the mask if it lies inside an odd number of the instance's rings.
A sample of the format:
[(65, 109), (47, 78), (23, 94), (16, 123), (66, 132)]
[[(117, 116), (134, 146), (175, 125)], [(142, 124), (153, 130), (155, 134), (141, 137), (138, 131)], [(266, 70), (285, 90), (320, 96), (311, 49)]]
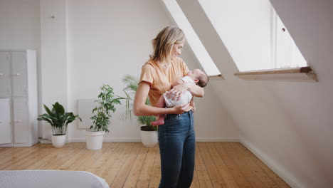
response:
[(163, 2), (176, 24), (184, 31), (187, 43), (189, 43), (190, 48), (203, 67), (203, 70), (209, 76), (221, 75), (176, 0), (163, 0)]

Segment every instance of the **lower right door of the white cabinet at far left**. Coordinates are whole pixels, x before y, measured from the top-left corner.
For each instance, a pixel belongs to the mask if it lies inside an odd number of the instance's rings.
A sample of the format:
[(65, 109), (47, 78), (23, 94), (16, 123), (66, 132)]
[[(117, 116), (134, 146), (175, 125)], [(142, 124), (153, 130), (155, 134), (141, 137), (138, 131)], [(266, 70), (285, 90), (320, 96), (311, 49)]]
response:
[(13, 98), (14, 143), (28, 142), (28, 101), (26, 98)]

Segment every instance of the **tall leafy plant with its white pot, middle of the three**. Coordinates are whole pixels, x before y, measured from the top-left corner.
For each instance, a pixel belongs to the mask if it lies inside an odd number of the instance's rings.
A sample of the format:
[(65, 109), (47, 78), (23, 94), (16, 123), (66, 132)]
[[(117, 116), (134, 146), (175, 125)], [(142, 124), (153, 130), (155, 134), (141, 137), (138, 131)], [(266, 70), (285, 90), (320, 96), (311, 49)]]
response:
[(102, 149), (103, 135), (105, 132), (109, 132), (108, 125), (110, 125), (112, 113), (115, 113), (115, 105), (120, 105), (120, 100), (127, 100), (127, 98), (114, 95), (110, 85), (102, 85), (100, 90), (98, 99), (95, 100), (98, 105), (93, 109), (93, 117), (90, 117), (93, 125), (90, 126), (90, 130), (85, 131), (88, 150)]

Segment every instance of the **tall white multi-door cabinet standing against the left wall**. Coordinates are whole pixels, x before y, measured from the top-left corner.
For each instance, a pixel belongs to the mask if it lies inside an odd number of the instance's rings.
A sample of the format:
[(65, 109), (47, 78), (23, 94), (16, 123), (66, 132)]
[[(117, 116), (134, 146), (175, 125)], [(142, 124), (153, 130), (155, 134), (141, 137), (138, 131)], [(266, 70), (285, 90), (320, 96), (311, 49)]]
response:
[[(38, 142), (38, 99), (36, 51), (0, 51), (0, 98), (8, 98), (11, 142), (8, 125), (0, 124), (0, 147), (31, 146)], [(5, 118), (5, 117), (3, 117)], [(5, 144), (7, 143), (7, 144)]]

